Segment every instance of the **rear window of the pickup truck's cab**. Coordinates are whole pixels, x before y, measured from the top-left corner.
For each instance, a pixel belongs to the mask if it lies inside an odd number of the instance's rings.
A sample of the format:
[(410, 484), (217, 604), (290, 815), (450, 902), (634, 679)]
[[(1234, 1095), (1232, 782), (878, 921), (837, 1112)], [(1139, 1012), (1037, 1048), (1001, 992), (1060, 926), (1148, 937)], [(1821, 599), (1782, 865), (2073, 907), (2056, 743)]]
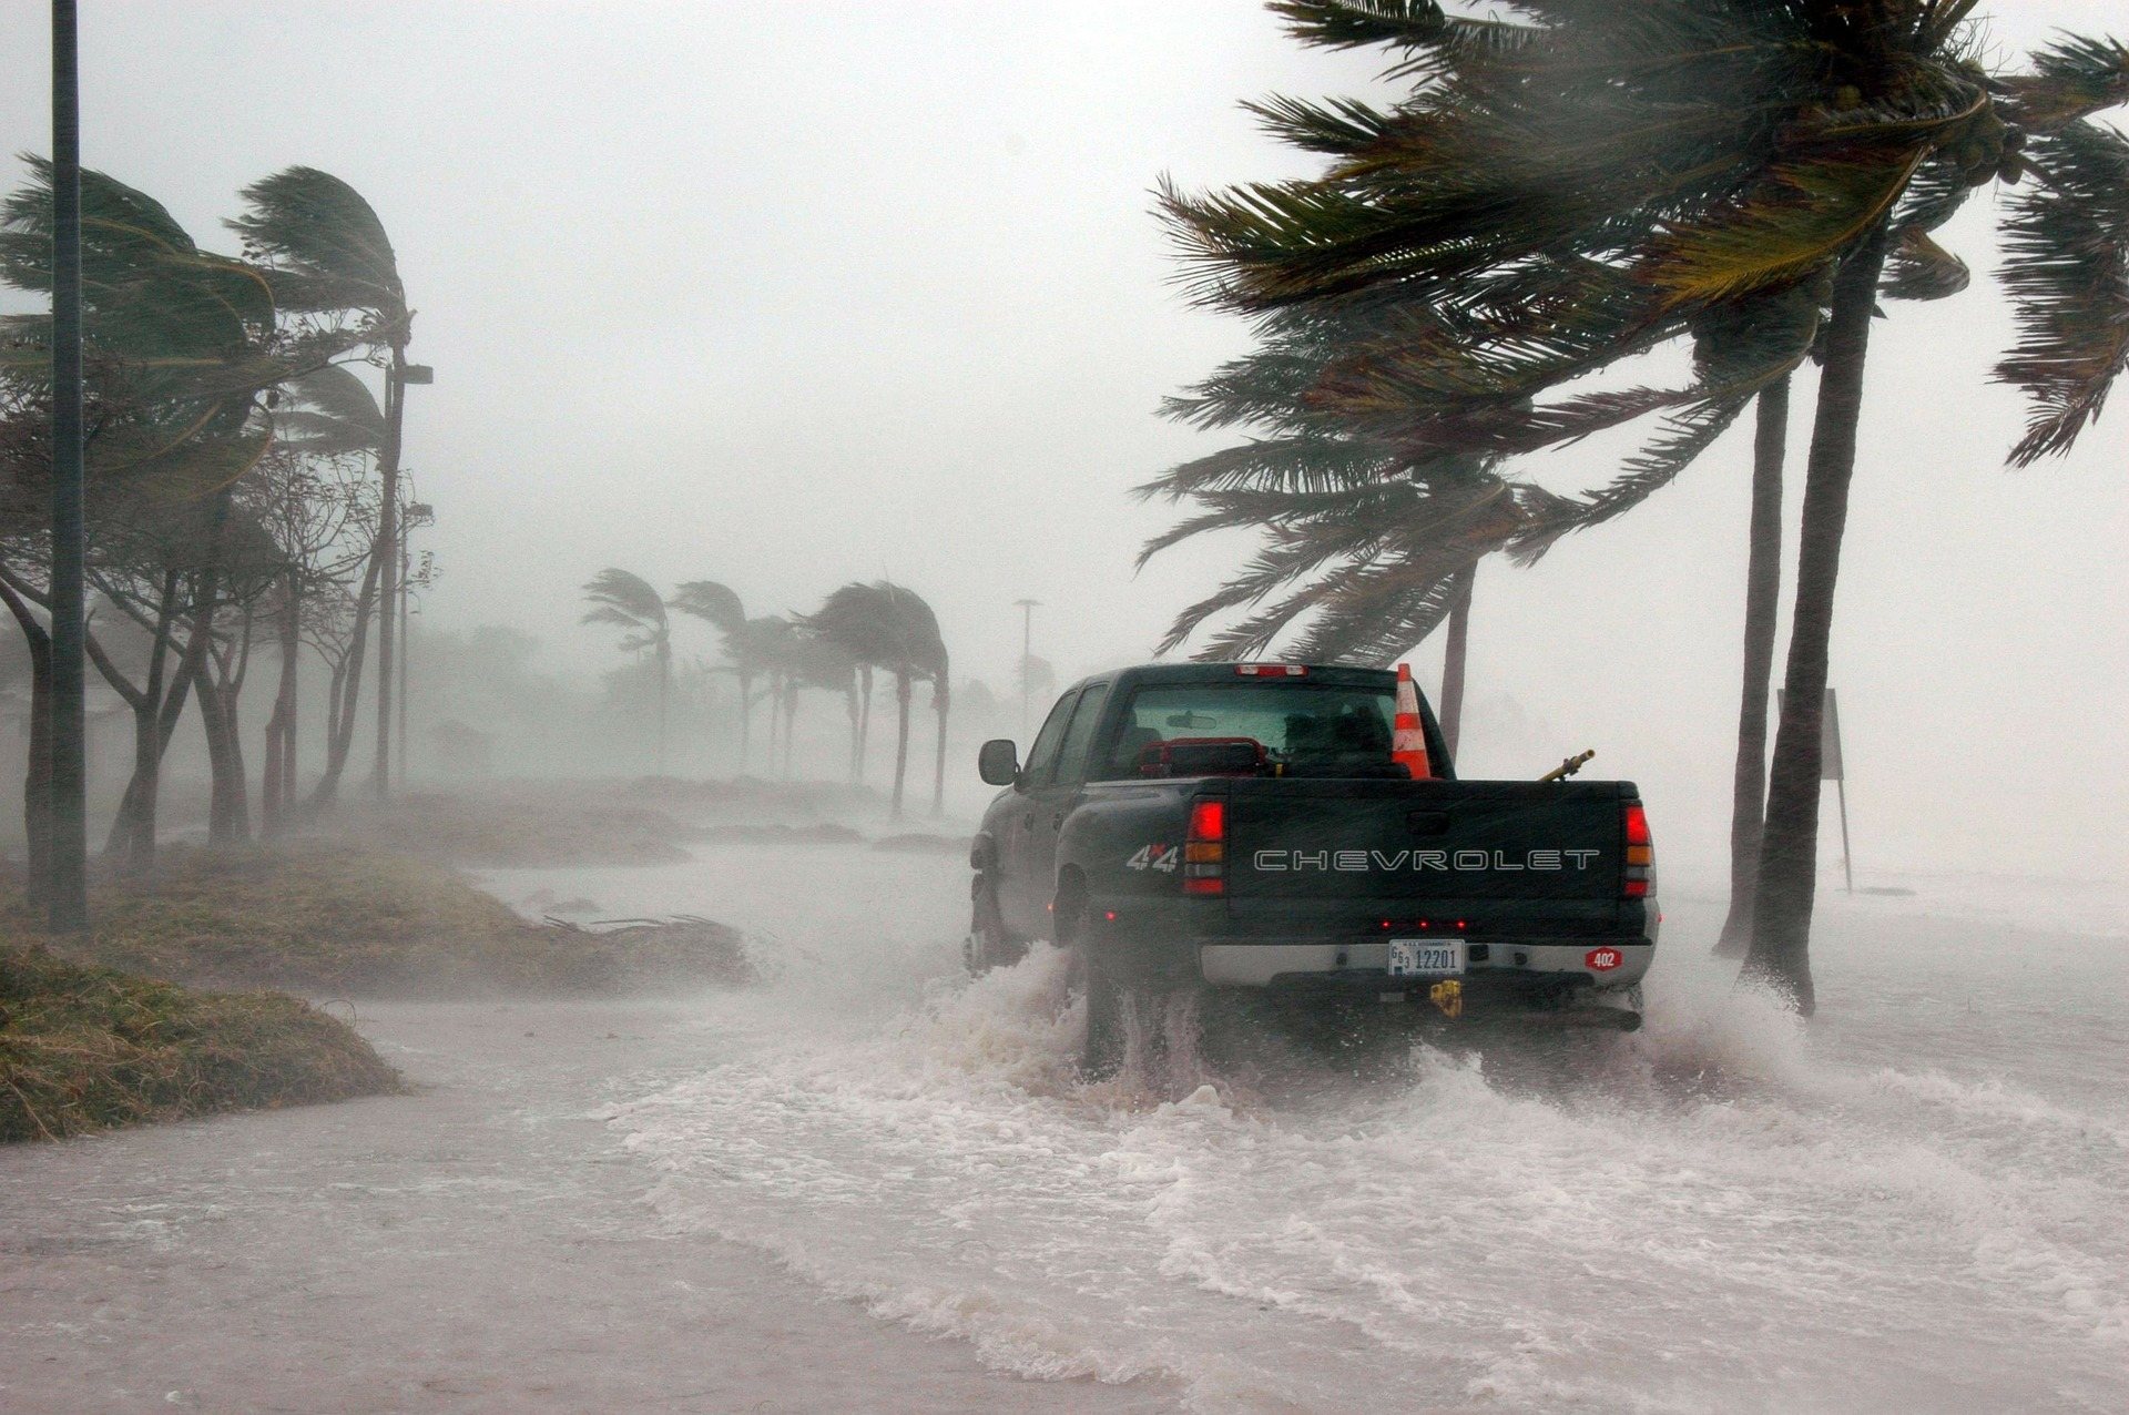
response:
[(1124, 706), (1099, 781), (1139, 777), (1165, 743), (1243, 738), (1288, 770), (1380, 766), (1390, 760), (1397, 692), (1388, 685), (1190, 683), (1141, 687)]

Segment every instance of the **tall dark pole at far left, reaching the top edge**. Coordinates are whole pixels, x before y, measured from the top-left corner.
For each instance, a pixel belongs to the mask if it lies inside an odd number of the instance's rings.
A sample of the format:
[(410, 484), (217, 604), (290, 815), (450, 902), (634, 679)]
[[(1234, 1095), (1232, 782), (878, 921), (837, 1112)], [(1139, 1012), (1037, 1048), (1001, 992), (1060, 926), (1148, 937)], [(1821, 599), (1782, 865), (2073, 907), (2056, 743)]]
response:
[(49, 921), (89, 926), (83, 719), (81, 51), (75, 0), (51, 0), (51, 783)]

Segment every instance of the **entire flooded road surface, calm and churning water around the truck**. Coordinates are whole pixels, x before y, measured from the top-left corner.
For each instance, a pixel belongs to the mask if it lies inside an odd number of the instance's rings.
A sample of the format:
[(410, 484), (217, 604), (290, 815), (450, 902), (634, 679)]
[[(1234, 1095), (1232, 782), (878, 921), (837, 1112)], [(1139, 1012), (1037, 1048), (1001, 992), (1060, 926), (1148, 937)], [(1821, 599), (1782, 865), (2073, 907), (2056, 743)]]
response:
[(1056, 953), (958, 975), (954, 855), (483, 881), (771, 981), (366, 1006), (434, 1089), (0, 1155), (0, 1409), (2129, 1404), (2110, 909), (1829, 898), (1803, 1028), (1673, 902), (1635, 1036), (1209, 1015), (1090, 1087)]

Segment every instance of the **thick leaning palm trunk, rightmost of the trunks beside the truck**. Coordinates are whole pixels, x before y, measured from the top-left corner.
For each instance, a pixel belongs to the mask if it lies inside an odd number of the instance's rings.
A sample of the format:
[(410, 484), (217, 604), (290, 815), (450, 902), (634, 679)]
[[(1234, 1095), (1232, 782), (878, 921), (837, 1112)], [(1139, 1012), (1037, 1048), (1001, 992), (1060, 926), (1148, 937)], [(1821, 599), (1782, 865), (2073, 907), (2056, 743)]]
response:
[(1818, 377), (1818, 411), (1803, 483), (1803, 528), (1797, 536), (1797, 606), (1788, 630), (1788, 675), (1782, 726), (1773, 738), (1767, 787), (1767, 830), (1759, 849), (1752, 902), (1752, 949), (1746, 975), (1790, 996), (1805, 1017), (1812, 992), (1812, 904), (1818, 894), (1818, 770), (1827, 706), (1827, 655), (1833, 638), (1833, 587), (1839, 579), (1848, 485), (1856, 466), (1863, 419), (1863, 368), (1869, 321), (1878, 304), (1886, 232), (1880, 228), (1833, 281), (1833, 317)]

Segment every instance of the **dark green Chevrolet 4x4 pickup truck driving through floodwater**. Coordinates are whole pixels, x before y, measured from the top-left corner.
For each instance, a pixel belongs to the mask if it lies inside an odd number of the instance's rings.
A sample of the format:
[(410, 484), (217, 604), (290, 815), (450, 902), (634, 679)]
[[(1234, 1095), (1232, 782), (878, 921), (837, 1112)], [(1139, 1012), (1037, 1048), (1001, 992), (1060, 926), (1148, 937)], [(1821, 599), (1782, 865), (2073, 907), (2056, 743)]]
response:
[[(1154, 664), (1058, 698), (971, 847), (981, 972), (1073, 949), (1084, 1066), (1111, 1070), (1135, 994), (1544, 1011), (1633, 1030), (1656, 949), (1654, 847), (1627, 781), (1458, 781), (1392, 751), (1394, 672)], [(1412, 743), (1418, 747), (1418, 743)]]

